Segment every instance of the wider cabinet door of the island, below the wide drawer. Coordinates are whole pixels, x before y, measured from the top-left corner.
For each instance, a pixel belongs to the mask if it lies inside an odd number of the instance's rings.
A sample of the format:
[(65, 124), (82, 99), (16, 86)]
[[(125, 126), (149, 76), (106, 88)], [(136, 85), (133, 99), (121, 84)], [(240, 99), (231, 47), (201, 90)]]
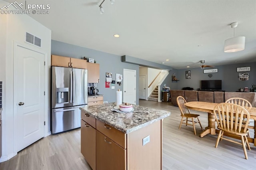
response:
[(126, 170), (126, 149), (96, 130), (97, 170)]

